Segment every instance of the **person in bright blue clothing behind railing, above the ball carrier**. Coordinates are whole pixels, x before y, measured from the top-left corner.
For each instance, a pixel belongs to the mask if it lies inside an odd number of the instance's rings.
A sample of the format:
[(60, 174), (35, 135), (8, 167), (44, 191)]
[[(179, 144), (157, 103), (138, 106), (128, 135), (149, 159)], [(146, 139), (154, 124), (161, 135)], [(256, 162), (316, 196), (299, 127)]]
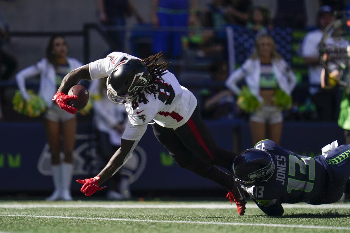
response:
[[(154, 27), (187, 27), (196, 24), (198, 0), (153, 0)], [(158, 31), (154, 35), (154, 52), (163, 50), (166, 58), (179, 58), (183, 31)]]

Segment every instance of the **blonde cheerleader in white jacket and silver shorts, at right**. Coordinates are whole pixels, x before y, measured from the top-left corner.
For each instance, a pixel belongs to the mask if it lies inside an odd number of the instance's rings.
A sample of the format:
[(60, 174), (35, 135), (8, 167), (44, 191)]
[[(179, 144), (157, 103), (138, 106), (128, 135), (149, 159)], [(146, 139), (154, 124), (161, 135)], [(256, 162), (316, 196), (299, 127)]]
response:
[(262, 34), (257, 37), (252, 56), (229, 76), (226, 87), (239, 95), (241, 90), (237, 82), (243, 78), (250, 92), (262, 103), (250, 116), (253, 144), (266, 138), (279, 144), (283, 116), (282, 111), (273, 105), (274, 95), (278, 89), (290, 95), (296, 85), (296, 77), (286, 61), (276, 52), (271, 36)]

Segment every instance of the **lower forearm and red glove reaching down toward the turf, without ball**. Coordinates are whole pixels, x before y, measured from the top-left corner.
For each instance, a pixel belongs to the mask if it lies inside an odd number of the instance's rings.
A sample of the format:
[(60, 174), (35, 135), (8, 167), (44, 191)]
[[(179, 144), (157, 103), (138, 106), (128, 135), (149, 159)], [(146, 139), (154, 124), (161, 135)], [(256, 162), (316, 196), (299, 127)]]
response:
[(118, 170), (131, 158), (132, 152), (137, 145), (138, 141), (131, 141), (121, 139), (120, 148), (114, 153), (110, 161), (105, 168), (95, 176), (94, 178), (77, 180), (77, 182), (83, 184), (80, 189), (86, 196), (94, 194), (97, 190), (102, 190), (105, 187), (100, 188), (100, 185), (114, 175)]

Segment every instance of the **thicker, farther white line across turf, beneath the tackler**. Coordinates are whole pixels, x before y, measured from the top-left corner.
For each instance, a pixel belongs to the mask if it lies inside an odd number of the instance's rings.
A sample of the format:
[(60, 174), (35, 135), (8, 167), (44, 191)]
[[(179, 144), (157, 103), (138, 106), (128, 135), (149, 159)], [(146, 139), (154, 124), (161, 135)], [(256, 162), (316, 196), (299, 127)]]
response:
[[(306, 209), (350, 209), (349, 204), (327, 204), (327, 205), (308, 205), (308, 204), (282, 204), (283, 208), (306, 208)], [(36, 203), (36, 204), (0, 204), (0, 208), (8, 209), (26, 209), (26, 208), (105, 208), (105, 209), (232, 209), (235, 203), (195, 203), (195, 204), (148, 204), (148, 203), (123, 203), (123, 204), (96, 204), (92, 202), (82, 203)], [(247, 204), (247, 208), (258, 208), (255, 204)]]

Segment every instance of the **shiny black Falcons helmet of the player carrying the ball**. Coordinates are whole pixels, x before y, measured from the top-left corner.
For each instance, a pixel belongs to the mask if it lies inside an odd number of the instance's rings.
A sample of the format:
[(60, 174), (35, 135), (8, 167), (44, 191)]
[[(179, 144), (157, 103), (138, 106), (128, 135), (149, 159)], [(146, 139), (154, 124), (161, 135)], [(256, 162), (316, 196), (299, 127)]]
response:
[(107, 97), (115, 104), (130, 103), (150, 80), (151, 75), (141, 60), (122, 61), (107, 78)]

